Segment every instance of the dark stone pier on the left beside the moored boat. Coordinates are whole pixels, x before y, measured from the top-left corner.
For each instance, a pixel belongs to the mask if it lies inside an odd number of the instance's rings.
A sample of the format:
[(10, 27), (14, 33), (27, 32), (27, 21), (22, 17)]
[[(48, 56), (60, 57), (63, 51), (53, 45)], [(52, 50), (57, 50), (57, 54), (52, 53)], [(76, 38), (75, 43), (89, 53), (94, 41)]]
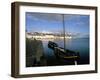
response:
[(47, 60), (41, 40), (26, 38), (26, 67), (46, 66)]

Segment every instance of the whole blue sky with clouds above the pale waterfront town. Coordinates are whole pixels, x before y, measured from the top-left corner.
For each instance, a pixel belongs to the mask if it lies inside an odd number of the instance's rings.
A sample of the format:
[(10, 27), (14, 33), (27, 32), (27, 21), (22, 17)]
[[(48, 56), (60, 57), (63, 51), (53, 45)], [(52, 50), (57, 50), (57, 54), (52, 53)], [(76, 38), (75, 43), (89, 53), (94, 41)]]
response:
[(63, 27), (66, 33), (87, 35), (89, 34), (89, 15), (26, 12), (28, 32), (63, 33)]

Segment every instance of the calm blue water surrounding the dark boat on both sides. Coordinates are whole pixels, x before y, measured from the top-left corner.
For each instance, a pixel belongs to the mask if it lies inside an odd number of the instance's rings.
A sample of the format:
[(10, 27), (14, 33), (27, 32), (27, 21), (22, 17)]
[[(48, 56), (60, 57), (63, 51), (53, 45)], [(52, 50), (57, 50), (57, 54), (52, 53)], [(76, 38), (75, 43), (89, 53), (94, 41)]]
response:
[[(52, 39), (52, 40), (42, 40), (44, 54), (47, 58), (48, 66), (62, 65), (56, 59), (52, 49), (48, 48), (48, 41), (53, 41), (58, 44), (59, 47), (64, 48), (63, 39)], [(67, 39), (65, 41), (66, 49), (73, 50), (80, 53), (80, 60), (77, 62), (78, 65), (89, 64), (89, 38), (76, 38), (76, 39)], [(68, 65), (67, 63), (65, 63)], [(64, 65), (65, 65), (64, 64)]]

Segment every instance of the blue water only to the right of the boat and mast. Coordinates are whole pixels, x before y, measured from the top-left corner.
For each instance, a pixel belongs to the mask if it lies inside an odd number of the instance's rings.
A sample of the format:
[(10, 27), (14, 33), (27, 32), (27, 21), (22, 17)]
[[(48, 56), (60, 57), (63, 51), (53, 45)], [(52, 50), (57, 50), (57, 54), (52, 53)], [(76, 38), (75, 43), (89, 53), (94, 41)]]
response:
[(66, 41), (66, 49), (80, 53), (78, 64), (89, 64), (89, 38), (78, 38)]

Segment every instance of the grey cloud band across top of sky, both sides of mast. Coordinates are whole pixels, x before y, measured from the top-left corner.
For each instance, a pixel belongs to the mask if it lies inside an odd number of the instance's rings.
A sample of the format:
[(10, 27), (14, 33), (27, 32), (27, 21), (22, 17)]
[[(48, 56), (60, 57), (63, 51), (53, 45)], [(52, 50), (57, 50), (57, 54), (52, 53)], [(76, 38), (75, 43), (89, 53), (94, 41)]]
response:
[(35, 21), (44, 20), (44, 21), (52, 21), (52, 22), (54, 21), (62, 22), (63, 16), (64, 16), (64, 20), (76, 19), (79, 22), (81, 17), (86, 17), (85, 15), (79, 15), (79, 14), (63, 15), (63, 14), (54, 14), (54, 13), (33, 13), (33, 12), (27, 12), (26, 15), (28, 18)]

